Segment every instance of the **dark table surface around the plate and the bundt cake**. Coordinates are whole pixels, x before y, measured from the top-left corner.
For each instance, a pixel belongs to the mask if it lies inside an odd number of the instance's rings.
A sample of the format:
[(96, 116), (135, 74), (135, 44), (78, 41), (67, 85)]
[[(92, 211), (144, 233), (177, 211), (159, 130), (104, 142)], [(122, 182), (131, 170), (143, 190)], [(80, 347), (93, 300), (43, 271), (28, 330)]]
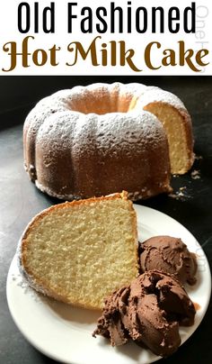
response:
[[(180, 199), (157, 196), (141, 204), (162, 211), (182, 223), (197, 238), (212, 263), (212, 77), (0, 77), (0, 363), (55, 363), (24, 339), (16, 328), (6, 301), (6, 277), (25, 225), (34, 214), (58, 200), (43, 195), (23, 169), (22, 124), (31, 107), (41, 97), (61, 88), (93, 82), (141, 82), (161, 86), (180, 96), (193, 121), (195, 160), (192, 170), (173, 177)], [(39, 324), (39, 323), (38, 323)], [(161, 363), (211, 363), (212, 310), (198, 330), (169, 359)], [(90, 363), (89, 363), (90, 364)]]

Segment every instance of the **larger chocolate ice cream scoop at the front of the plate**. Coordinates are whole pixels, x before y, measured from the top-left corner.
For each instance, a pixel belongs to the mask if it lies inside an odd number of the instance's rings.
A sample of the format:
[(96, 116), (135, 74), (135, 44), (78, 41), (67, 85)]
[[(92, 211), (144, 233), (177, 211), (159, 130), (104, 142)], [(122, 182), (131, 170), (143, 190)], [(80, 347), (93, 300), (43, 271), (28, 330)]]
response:
[(194, 322), (195, 308), (180, 282), (150, 270), (105, 300), (93, 336), (121, 345), (131, 338), (156, 355), (171, 355), (181, 344), (179, 324)]

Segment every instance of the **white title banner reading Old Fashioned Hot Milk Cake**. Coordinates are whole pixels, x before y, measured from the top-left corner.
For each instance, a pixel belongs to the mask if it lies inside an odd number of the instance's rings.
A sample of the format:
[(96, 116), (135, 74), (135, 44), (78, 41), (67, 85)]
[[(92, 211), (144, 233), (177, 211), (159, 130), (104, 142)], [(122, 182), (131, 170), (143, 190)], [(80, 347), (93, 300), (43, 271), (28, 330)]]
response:
[(210, 0), (0, 5), (1, 75), (212, 75)]

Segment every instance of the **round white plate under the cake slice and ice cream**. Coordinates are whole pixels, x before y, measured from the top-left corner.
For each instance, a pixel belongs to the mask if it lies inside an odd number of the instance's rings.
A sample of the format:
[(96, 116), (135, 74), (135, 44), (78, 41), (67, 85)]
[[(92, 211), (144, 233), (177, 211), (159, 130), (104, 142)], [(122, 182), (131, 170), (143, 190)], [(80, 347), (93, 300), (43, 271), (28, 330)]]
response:
[[(198, 283), (186, 287), (191, 300), (199, 305), (195, 323), (181, 328), (181, 341), (197, 329), (206, 310), (211, 290), (208, 260), (198, 241), (180, 223), (151, 208), (135, 205), (140, 241), (155, 235), (180, 237), (198, 256)], [(7, 278), (7, 301), (13, 320), (31, 344), (52, 359), (71, 364), (146, 364), (160, 359), (151, 351), (129, 342), (112, 348), (92, 332), (100, 313), (58, 303), (37, 294), (22, 281), (14, 257)]]

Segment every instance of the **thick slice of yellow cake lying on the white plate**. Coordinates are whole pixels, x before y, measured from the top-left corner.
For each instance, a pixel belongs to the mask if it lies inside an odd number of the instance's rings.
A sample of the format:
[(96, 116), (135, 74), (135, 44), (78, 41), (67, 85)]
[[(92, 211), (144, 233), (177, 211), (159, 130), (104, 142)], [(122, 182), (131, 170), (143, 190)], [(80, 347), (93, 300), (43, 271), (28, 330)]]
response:
[(137, 218), (127, 194), (53, 205), (22, 235), (19, 263), (30, 285), (67, 304), (102, 308), (138, 276)]

